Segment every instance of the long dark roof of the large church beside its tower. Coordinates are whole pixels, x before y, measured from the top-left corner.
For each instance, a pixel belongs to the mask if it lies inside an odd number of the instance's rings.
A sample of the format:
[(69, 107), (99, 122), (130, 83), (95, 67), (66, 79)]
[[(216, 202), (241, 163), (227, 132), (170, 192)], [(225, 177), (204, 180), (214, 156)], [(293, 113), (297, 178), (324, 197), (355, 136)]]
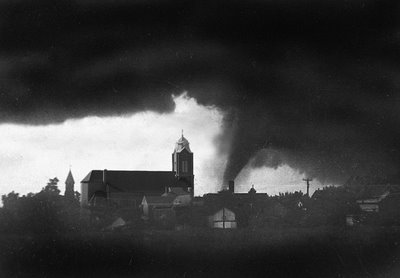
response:
[[(103, 182), (103, 170), (92, 170), (81, 183)], [(164, 191), (173, 187), (178, 180), (172, 171), (115, 171), (106, 170), (106, 182), (111, 187), (124, 192)]]

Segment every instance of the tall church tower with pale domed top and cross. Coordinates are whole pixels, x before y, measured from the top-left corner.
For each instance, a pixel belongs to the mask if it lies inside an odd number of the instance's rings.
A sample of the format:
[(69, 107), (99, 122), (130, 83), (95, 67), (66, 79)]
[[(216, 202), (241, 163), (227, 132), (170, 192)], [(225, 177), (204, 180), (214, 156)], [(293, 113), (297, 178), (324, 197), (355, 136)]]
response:
[(172, 171), (175, 172), (178, 180), (183, 182), (193, 194), (193, 153), (189, 148), (189, 141), (183, 137), (183, 132), (172, 153)]

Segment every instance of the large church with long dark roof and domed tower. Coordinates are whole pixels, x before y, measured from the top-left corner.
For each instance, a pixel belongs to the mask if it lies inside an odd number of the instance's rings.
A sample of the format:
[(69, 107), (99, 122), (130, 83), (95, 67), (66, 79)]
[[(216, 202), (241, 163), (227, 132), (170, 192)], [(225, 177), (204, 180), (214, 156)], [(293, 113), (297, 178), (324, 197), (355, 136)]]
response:
[(193, 153), (183, 134), (172, 153), (172, 171), (92, 170), (81, 181), (81, 205), (137, 208), (143, 196), (161, 196), (172, 187), (193, 195)]

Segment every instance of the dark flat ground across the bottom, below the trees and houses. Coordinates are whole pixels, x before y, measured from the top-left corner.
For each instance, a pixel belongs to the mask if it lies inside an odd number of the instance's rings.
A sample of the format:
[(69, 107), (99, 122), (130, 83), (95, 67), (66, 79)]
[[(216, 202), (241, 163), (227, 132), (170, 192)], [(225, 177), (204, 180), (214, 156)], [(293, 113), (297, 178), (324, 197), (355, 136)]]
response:
[(3, 235), (1, 277), (400, 277), (400, 228)]

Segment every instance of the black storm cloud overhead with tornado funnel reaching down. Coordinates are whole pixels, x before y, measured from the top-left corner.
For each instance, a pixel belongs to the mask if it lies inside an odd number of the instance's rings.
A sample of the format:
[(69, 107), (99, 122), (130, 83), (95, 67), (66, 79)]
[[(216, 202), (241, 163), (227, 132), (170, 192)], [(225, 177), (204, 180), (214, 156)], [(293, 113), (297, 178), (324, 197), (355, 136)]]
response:
[(288, 164), (321, 180), (400, 166), (395, 1), (1, 1), (0, 117), (46, 124), (225, 111), (225, 180)]

